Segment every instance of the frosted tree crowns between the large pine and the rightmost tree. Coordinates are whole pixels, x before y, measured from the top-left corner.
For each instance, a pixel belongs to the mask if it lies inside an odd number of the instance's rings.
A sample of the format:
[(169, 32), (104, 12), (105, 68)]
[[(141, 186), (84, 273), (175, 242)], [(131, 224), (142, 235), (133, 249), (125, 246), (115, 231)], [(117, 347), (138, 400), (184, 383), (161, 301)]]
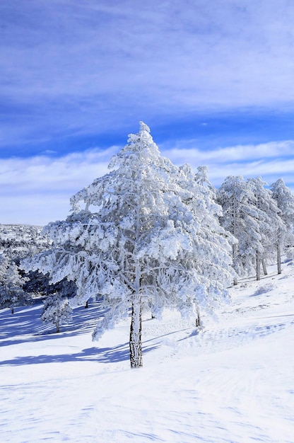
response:
[(233, 266), (237, 274), (257, 272), (260, 263), (266, 272), (266, 260), (273, 260), (286, 227), (279, 217), (276, 201), (261, 178), (229, 176), (218, 190), (223, 207), (220, 223), (238, 240), (233, 245)]

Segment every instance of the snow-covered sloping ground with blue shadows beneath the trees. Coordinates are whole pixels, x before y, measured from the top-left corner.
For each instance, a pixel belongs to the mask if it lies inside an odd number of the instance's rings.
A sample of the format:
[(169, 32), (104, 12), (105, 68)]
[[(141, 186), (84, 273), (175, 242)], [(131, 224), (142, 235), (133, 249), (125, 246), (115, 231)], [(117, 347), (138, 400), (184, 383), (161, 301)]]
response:
[(231, 289), (196, 334), (167, 312), (91, 341), (99, 305), (42, 325), (41, 306), (0, 311), (0, 442), (294, 442), (294, 267)]

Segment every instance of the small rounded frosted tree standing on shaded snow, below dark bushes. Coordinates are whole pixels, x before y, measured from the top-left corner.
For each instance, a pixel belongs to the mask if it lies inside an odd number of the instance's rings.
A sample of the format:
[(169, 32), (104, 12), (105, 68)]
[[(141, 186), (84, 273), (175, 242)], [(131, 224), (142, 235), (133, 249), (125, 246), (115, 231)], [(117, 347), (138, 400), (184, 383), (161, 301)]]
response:
[(71, 321), (72, 311), (67, 297), (62, 297), (57, 293), (45, 299), (41, 318), (45, 323), (53, 323), (56, 326), (56, 332), (59, 333), (60, 325)]

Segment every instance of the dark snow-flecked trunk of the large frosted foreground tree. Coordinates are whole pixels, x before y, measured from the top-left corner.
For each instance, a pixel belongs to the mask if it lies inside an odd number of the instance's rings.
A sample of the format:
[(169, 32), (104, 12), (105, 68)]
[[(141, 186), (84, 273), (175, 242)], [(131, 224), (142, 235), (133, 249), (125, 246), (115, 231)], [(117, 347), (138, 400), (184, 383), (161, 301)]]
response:
[(129, 333), (129, 359), (131, 368), (143, 366), (141, 330), (141, 299), (136, 299), (131, 306), (131, 329)]

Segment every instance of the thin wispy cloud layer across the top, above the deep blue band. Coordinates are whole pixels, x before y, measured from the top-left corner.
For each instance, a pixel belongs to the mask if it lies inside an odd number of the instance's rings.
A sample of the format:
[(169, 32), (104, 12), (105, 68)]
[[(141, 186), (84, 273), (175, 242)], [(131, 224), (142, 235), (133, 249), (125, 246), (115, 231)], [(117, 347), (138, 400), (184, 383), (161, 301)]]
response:
[(3, 0), (0, 22), (3, 145), (182, 113), (293, 108), (287, 0)]

